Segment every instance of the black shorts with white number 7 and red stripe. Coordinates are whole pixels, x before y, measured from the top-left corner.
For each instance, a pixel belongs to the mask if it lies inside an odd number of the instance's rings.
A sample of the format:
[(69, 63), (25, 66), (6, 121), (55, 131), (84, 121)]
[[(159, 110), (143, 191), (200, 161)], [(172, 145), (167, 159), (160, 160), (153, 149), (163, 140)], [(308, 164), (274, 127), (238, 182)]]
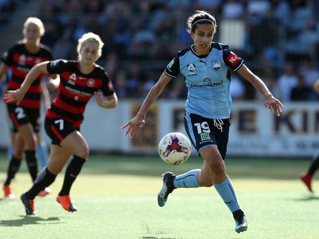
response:
[(61, 141), (73, 131), (80, 131), (79, 128), (74, 127), (69, 121), (60, 118), (51, 119), (46, 117), (44, 120), (44, 128), (52, 140), (52, 144), (57, 145), (60, 145)]

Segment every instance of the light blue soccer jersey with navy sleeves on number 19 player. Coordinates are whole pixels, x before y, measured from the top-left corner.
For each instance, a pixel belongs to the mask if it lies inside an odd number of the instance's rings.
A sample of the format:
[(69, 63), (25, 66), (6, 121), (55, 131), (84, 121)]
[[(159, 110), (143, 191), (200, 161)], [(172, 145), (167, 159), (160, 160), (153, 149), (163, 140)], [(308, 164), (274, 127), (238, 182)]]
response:
[(196, 54), (193, 46), (179, 51), (164, 72), (171, 77), (184, 75), (188, 89), (187, 113), (227, 119), (232, 106), (230, 69), (237, 71), (243, 60), (224, 44), (212, 42), (207, 55)]

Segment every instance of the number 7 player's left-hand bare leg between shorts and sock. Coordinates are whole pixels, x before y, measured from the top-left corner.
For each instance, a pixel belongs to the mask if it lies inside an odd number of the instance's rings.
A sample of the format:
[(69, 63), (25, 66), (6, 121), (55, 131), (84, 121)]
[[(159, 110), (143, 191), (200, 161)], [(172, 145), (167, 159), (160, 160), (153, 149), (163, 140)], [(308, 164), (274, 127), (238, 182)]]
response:
[(71, 155), (72, 152), (68, 148), (52, 144), (47, 165), (48, 170), (55, 175), (58, 174), (68, 162)]

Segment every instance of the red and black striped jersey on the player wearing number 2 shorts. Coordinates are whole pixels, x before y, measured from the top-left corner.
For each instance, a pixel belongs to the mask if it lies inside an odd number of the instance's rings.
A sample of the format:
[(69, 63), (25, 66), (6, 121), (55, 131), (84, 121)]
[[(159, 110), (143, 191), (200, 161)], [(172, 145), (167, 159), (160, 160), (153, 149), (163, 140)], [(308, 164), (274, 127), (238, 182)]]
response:
[[(50, 48), (40, 44), (40, 49), (36, 53), (28, 52), (25, 44), (20, 41), (12, 48), (5, 51), (1, 57), (3, 63), (12, 70), (12, 76), (8, 83), (8, 90), (17, 90), (25, 80), (30, 69), (38, 63), (53, 60)], [(40, 109), (41, 86), (40, 80), (43, 74), (40, 74), (32, 83), (26, 96), (20, 105), (26, 108)], [(8, 104), (15, 104), (10, 102)]]

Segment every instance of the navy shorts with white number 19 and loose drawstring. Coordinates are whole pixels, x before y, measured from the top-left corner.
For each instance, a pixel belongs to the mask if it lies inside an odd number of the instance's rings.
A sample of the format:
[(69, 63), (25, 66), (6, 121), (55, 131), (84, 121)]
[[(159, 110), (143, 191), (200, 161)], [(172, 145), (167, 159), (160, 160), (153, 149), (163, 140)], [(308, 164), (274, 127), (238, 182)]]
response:
[(216, 145), (223, 160), (226, 157), (229, 126), (228, 119), (208, 119), (186, 113), (184, 117), (186, 133), (200, 155), (200, 150), (209, 145)]

